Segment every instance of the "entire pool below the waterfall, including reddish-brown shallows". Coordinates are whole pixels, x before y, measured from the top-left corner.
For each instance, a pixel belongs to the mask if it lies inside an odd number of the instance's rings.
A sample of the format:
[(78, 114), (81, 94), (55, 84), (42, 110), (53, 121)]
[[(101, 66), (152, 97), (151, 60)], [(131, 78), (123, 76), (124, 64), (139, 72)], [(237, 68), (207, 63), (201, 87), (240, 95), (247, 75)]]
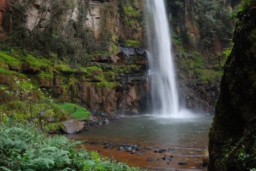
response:
[[(129, 166), (206, 170), (202, 161), (212, 118), (202, 114), (188, 118), (121, 116), (109, 125), (90, 127), (89, 131), (68, 137), (85, 141), (86, 149)], [(129, 147), (136, 150), (131, 153)]]

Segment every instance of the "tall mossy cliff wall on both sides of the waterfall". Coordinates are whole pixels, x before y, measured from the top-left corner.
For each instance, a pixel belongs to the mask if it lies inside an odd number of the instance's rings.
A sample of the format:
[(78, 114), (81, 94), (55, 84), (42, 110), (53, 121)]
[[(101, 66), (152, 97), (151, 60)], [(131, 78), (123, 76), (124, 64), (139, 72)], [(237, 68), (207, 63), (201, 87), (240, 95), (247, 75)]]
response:
[[(232, 20), (226, 15), (233, 3), (167, 2), (181, 102), (195, 112), (214, 113), (222, 75), (216, 55), (228, 44)], [(73, 69), (96, 66), (102, 70), (96, 77), (103, 79), (88, 81), (85, 75), (64, 72), (55, 73), (53, 80), (41, 80), (41, 87), (51, 90), (55, 98), (95, 112), (137, 114), (146, 109), (150, 85), (142, 50), (147, 44), (143, 1), (10, 0), (0, 5), (5, 16), (3, 49), (11, 52), (15, 46)], [(227, 31), (218, 32), (222, 29)], [(107, 73), (113, 73), (113, 78), (106, 78)], [(102, 90), (96, 83), (104, 81), (117, 86)]]

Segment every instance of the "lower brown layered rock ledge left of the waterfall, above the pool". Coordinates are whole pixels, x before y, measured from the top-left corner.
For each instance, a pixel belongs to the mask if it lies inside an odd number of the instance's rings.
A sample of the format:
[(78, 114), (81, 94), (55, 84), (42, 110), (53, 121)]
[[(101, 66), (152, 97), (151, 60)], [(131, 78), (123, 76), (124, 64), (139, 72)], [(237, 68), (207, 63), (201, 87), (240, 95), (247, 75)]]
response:
[[(97, 115), (105, 112), (110, 117), (117, 114), (139, 114), (146, 109), (150, 97), (146, 72), (146, 52), (137, 48), (125, 48), (135, 52), (125, 55), (122, 49), (117, 53), (119, 55), (117, 63), (110, 65), (108, 61), (95, 62), (95, 59), (100, 59), (100, 57), (93, 59), (94, 65), (108, 64), (112, 67), (113, 65), (121, 67), (124, 70), (123, 73), (115, 73), (117, 75), (114, 77), (106, 77), (112, 83), (114, 81), (114, 86), (108, 86), (107, 83), (100, 86), (104, 81), (95, 79), (96, 76), (96, 78), (103, 77), (102, 71), (98, 70), (92, 71), (93, 76), (91, 77), (82, 73), (55, 75), (53, 79), (41, 84), (41, 86), (48, 88), (53, 92), (53, 96), (60, 101), (74, 102), (90, 108), (92, 114)], [(110, 57), (106, 57), (106, 59), (110, 59)]]

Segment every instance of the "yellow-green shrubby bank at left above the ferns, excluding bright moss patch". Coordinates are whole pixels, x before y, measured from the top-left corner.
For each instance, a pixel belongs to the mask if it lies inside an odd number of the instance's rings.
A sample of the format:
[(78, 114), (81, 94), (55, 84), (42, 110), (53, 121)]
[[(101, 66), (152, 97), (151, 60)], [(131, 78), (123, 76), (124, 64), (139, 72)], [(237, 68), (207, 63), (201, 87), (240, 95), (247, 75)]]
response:
[[(13, 85), (0, 87), (1, 95), (6, 99), (4, 104), (0, 104), (0, 112), (4, 116), (15, 121), (30, 121), (42, 131), (53, 121), (59, 123), (67, 119), (67, 113), (53, 104), (53, 98), (46, 90), (38, 88), (28, 79), (13, 79)], [(2, 120), (5, 117), (0, 117)]]

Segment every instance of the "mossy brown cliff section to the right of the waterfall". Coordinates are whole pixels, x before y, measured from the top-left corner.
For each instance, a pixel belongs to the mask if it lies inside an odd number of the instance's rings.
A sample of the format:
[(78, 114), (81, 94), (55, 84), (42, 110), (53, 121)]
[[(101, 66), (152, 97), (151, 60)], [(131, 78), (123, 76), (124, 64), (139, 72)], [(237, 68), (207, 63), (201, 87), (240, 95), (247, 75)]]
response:
[(239, 2), (166, 1), (181, 100), (195, 112), (214, 114), (221, 77), (218, 54), (228, 46), (234, 28), (229, 13)]

